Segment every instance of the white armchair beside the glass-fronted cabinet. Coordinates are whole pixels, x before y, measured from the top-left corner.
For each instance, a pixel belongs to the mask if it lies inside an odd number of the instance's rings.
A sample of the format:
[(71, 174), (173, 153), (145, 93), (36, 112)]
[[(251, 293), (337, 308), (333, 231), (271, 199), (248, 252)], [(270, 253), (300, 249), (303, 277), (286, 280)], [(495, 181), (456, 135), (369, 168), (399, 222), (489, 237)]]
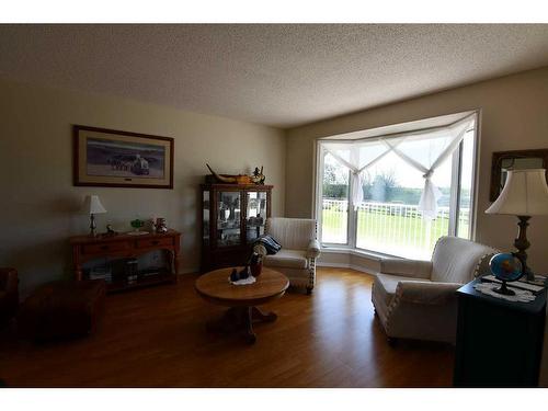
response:
[[(320, 255), (316, 220), (269, 218), (265, 233), (279, 242), (282, 250), (265, 255), (263, 264), (284, 273), (292, 286), (304, 287), (307, 294), (311, 294), (316, 284), (316, 259)], [(254, 251), (262, 253), (261, 247), (255, 246)]]

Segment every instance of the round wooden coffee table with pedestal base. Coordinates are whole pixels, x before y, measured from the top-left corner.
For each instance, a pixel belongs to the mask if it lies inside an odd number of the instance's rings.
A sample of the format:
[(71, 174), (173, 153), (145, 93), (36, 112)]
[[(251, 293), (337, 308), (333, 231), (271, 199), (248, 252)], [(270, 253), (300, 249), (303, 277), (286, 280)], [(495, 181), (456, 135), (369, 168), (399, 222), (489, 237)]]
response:
[(232, 269), (220, 269), (206, 273), (196, 279), (194, 287), (205, 300), (230, 307), (222, 319), (210, 324), (212, 329), (242, 331), (246, 340), (253, 344), (256, 340), (253, 322), (272, 322), (277, 318), (274, 312), (263, 312), (256, 306), (282, 297), (289, 279), (277, 271), (263, 267), (255, 283), (233, 285), (228, 281)]

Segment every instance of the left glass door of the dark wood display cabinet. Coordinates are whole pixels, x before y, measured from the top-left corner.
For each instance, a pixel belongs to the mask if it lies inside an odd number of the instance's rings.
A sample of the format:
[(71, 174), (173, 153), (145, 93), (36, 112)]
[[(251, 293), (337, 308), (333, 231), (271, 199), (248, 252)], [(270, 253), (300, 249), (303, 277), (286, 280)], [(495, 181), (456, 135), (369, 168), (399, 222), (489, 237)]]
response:
[(217, 247), (239, 246), (241, 243), (240, 192), (219, 192), (217, 202)]

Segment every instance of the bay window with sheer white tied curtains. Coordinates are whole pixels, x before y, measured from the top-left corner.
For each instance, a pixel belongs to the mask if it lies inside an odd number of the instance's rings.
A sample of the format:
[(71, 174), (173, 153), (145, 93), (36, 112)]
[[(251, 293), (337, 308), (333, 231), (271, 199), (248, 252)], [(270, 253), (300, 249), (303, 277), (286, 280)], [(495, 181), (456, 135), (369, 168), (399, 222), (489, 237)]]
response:
[(476, 124), (467, 113), (433, 127), (319, 140), (322, 244), (430, 259), (441, 236), (471, 238)]

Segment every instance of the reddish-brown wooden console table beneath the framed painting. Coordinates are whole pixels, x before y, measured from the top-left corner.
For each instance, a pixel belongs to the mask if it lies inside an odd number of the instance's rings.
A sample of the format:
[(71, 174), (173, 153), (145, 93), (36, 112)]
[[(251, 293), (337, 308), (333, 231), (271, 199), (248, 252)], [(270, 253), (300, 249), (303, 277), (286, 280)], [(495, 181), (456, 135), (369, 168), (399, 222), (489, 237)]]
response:
[(146, 233), (140, 236), (117, 235), (112, 237), (77, 236), (70, 238), (75, 278), (83, 279), (82, 264), (100, 258), (132, 259), (155, 250), (164, 250), (168, 255), (169, 270), (159, 274), (139, 278), (133, 283), (113, 282), (107, 284), (110, 292), (141, 287), (159, 283), (176, 283), (180, 263), (181, 233), (169, 230), (164, 233)]

